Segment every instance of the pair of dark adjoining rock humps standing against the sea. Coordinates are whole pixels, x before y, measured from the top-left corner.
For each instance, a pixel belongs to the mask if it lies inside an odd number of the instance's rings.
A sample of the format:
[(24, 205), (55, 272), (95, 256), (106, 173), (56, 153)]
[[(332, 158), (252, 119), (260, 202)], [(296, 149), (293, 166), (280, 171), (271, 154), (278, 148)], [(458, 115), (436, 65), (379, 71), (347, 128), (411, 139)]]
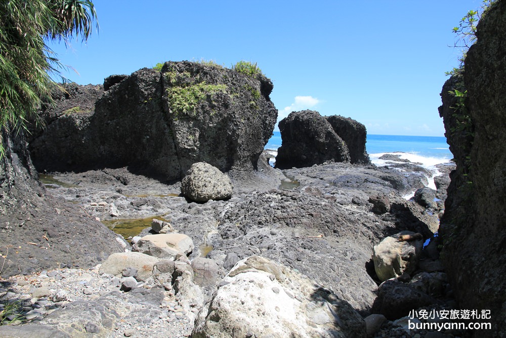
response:
[(365, 127), (341, 116), (318, 111), (292, 111), (279, 122), (282, 145), (276, 168), (303, 168), (325, 162), (369, 163)]

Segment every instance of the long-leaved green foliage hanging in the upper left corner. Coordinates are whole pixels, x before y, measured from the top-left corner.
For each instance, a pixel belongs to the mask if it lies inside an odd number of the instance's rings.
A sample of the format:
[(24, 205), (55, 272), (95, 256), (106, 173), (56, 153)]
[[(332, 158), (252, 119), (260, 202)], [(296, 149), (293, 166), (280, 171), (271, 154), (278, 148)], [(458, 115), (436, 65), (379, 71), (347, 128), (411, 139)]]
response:
[(86, 41), (96, 12), (87, 0), (9, 0), (0, 2), (0, 18), (0, 129), (20, 131), (41, 99), (51, 102), (51, 75), (65, 81), (46, 41)]

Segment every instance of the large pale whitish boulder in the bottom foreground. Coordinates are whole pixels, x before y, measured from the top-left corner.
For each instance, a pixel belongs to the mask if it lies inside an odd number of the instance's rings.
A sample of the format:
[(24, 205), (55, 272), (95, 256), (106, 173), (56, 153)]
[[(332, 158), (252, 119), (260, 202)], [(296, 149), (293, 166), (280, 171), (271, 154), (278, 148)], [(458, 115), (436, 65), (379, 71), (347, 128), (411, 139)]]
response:
[(224, 281), (200, 312), (193, 337), (366, 336), (365, 322), (347, 302), (270, 259), (248, 257)]

